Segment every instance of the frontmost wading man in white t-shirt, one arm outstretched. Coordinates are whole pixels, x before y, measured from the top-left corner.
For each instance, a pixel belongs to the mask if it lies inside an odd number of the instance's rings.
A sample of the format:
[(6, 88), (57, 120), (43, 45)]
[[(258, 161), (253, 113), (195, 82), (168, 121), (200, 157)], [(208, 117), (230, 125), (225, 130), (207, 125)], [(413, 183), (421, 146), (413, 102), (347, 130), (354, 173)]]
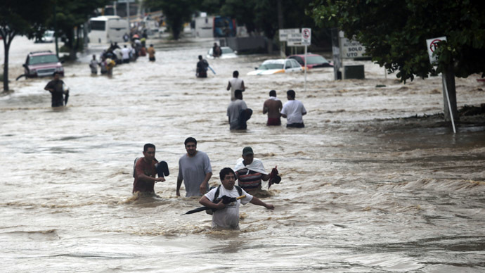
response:
[[(205, 193), (199, 200), (199, 203), (205, 207), (216, 209), (212, 214), (212, 228), (239, 229), (240, 204), (252, 203), (254, 205), (261, 205), (269, 210), (274, 210), (274, 205), (266, 204), (259, 200), (259, 198), (235, 186), (235, 175), (231, 168), (225, 167), (222, 169), (219, 172), (219, 177), (222, 185)], [(216, 196), (216, 193), (218, 193), (218, 196)], [(244, 197), (239, 198), (240, 196)], [(221, 200), (214, 203), (213, 201), (216, 201), (218, 198), (221, 198)], [(230, 203), (225, 202), (231, 198), (239, 199), (231, 200)]]

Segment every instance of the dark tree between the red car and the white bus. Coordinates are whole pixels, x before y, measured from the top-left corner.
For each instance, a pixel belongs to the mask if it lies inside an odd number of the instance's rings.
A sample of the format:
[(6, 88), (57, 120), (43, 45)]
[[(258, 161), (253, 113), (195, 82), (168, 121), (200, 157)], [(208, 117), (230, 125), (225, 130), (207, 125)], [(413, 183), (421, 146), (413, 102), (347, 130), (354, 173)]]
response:
[[(77, 49), (79, 49), (79, 33), (90, 15), (94, 15), (96, 8), (101, 8), (112, 3), (108, 0), (53, 0), (51, 11), (55, 11), (48, 23), (56, 27), (58, 34), (65, 35), (65, 46), (70, 49), (70, 59), (75, 60)], [(54, 18), (56, 15), (56, 18)], [(57, 26), (56, 26), (57, 25)]]

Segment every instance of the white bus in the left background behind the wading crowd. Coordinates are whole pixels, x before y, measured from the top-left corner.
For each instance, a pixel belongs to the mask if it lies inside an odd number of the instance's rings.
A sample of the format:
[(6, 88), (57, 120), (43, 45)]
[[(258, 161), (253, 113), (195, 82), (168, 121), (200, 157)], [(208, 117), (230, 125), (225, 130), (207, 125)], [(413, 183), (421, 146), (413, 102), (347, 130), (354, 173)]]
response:
[(89, 19), (89, 42), (93, 44), (123, 42), (123, 35), (129, 34), (128, 20), (116, 15)]

